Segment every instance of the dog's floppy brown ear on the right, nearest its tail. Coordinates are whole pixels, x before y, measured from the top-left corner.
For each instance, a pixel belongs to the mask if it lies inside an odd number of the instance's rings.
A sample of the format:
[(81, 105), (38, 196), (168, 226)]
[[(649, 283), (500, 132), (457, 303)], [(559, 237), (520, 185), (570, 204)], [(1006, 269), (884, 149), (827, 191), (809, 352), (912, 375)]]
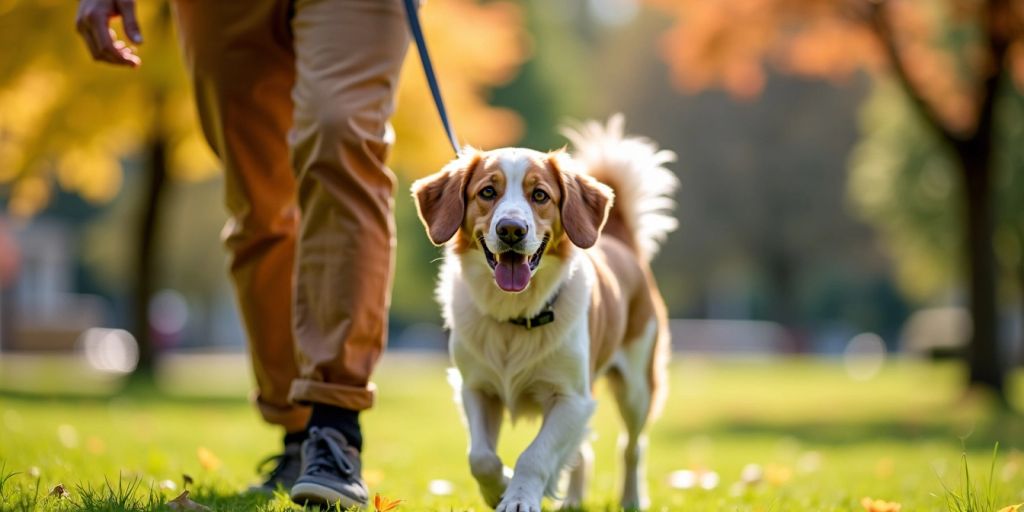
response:
[(594, 247), (601, 234), (614, 193), (604, 183), (580, 172), (578, 164), (564, 152), (549, 157), (562, 191), (562, 227), (579, 248)]

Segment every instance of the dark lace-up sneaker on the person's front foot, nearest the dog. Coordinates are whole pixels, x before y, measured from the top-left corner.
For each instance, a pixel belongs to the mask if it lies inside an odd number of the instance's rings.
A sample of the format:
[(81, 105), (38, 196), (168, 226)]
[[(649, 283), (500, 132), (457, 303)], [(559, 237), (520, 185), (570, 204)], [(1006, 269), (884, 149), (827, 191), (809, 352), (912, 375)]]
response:
[(359, 452), (348, 445), (345, 436), (329, 427), (312, 427), (302, 443), (302, 473), (292, 485), (297, 504), (340, 504), (342, 509), (365, 507), (369, 502), (362, 481)]

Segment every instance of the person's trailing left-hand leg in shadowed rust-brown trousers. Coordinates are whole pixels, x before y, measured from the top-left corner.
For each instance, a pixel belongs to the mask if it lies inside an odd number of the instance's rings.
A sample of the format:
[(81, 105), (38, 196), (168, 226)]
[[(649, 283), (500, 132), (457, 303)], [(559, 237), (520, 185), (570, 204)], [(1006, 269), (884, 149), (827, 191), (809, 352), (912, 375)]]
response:
[(175, 0), (203, 131), (225, 171), (223, 238), (263, 418), (301, 437), (309, 410), (291, 330), (298, 209), (289, 160), (295, 57), (288, 0)]

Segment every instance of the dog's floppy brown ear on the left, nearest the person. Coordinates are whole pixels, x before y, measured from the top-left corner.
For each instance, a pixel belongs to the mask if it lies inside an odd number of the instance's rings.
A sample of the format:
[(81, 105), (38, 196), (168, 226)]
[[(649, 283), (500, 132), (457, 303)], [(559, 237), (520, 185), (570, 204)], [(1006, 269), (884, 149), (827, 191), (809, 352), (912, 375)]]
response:
[(480, 153), (467, 150), (440, 171), (413, 183), (420, 220), (434, 245), (443, 245), (459, 230), (466, 215), (466, 184), (480, 162)]

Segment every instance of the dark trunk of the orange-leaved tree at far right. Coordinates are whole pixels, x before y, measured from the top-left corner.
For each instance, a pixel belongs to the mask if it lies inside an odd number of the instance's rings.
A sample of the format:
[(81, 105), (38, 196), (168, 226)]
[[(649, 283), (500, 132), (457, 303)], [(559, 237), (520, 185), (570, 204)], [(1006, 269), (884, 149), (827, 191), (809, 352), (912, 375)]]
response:
[[(980, 131), (987, 131), (979, 127)], [(985, 138), (985, 137), (980, 137)], [(969, 385), (993, 391), (1007, 402), (1007, 366), (999, 354), (995, 293), (994, 222), (991, 202), (992, 160), (988, 141), (973, 144), (978, 151), (962, 154), (966, 195), (966, 264), (973, 330), (968, 349)]]

